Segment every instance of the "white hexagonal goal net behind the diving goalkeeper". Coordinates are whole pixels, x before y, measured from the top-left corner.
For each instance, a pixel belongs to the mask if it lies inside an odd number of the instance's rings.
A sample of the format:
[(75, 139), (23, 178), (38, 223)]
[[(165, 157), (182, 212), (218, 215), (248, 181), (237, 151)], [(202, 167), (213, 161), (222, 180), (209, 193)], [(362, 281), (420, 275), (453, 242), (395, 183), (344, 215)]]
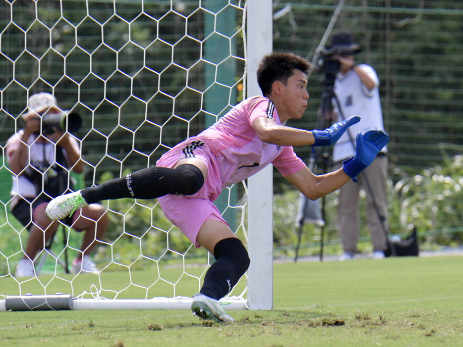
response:
[[(257, 4), (270, 14), (265, 22), (270, 48), (246, 45), (246, 30), (262, 28), (259, 21), (246, 28), (246, 15)], [(16, 278), (28, 231), (9, 212), (12, 173), (4, 145), (22, 129), (27, 99), (48, 92), (61, 109), (83, 119), (72, 134), (85, 161), (84, 174), (72, 176), (76, 189), (154, 165), (166, 150), (224, 115), (246, 91), (259, 93), (246, 74), (255, 74), (252, 66), (271, 50), (271, 1), (249, 6), (239, 0), (1, 2), (0, 309), (189, 309), (214, 259), (167, 221), (156, 200), (102, 202), (110, 227), (93, 255), (100, 274), (66, 273), (82, 235), (61, 225), (51, 248), (35, 258), (38, 275)], [(252, 40), (260, 35), (252, 34)], [(263, 303), (249, 302), (251, 287), (262, 297), (258, 277), (265, 291), (272, 291), (271, 254), (259, 254), (271, 249), (272, 231), (265, 230), (266, 223), (260, 228), (267, 246), (253, 246), (248, 238), (268, 217), (259, 215), (258, 207), (248, 211), (251, 201), (268, 199), (269, 192), (271, 201), (271, 191), (262, 187), (269, 174), (263, 175), (225, 190), (216, 201), (251, 257), (248, 273), (224, 298), (229, 309), (272, 307), (271, 294)], [(258, 237), (256, 231), (251, 239)]]

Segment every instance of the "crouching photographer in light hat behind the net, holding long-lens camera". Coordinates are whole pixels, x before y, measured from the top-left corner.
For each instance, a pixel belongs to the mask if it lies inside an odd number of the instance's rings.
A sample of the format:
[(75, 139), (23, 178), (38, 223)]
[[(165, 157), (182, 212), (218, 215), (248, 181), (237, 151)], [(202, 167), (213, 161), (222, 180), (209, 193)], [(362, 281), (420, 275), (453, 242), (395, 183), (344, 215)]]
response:
[[(34, 259), (55, 235), (59, 222), (45, 215), (48, 202), (73, 189), (70, 170), (81, 173), (84, 162), (80, 158), (77, 140), (66, 131), (80, 128), (81, 118), (76, 113), (66, 114), (58, 108), (57, 99), (49, 93), (32, 95), (28, 112), (22, 115), (23, 129), (6, 142), (6, 155), (13, 172), (11, 188), (12, 214), (29, 230), (24, 257), (16, 267), (16, 277), (34, 277)], [(62, 223), (84, 236), (71, 272), (98, 273), (90, 260), (90, 253), (108, 228), (106, 209), (101, 204), (90, 204), (66, 217)], [(45, 235), (44, 235), (45, 234)]]

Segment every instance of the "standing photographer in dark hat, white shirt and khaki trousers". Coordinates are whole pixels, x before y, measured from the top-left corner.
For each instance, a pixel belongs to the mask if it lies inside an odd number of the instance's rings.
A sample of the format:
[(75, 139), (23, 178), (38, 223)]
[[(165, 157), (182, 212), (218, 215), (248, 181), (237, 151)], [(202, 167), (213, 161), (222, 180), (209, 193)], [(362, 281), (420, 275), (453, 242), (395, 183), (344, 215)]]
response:
[[(366, 64), (357, 64), (355, 54), (360, 46), (355, 44), (348, 32), (339, 32), (332, 38), (330, 50), (340, 62), (339, 73), (334, 84), (338, 104), (334, 104), (337, 118), (343, 121), (353, 115), (360, 122), (352, 125), (333, 149), (335, 168), (342, 167), (343, 160), (355, 152), (355, 136), (366, 129), (384, 131), (383, 114), (379, 97), (379, 79), (375, 70)], [(366, 193), (366, 219), (373, 245), (373, 258), (384, 258), (387, 248), (388, 206), (386, 180), (388, 159), (386, 146), (378, 153), (373, 163), (357, 176), (358, 183), (348, 182), (341, 187), (338, 205), (338, 230), (344, 248), (340, 260), (354, 258), (359, 236), (359, 193)]]

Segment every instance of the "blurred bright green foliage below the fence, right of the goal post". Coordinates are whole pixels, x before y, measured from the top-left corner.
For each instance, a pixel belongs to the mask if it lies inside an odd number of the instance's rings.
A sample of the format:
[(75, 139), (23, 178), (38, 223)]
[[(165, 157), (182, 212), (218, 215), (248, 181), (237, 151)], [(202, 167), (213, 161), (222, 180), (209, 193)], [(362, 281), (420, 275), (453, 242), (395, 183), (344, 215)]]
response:
[[(388, 181), (389, 234), (405, 238), (416, 226), (420, 249), (455, 247), (463, 238), (463, 155), (447, 156), (436, 166), (409, 174), (395, 169)], [(395, 183), (394, 183), (395, 182)], [(286, 186), (283, 193), (274, 197), (274, 246), (275, 255), (294, 256), (298, 226), (295, 225), (299, 193)], [(365, 223), (365, 194), (360, 195), (361, 252), (371, 252), (368, 228)], [(337, 232), (337, 193), (325, 197), (325, 222), (323, 228), (324, 252), (340, 254)], [(320, 208), (322, 203), (320, 203)], [(299, 255), (320, 252), (322, 230), (312, 224), (303, 226)]]

